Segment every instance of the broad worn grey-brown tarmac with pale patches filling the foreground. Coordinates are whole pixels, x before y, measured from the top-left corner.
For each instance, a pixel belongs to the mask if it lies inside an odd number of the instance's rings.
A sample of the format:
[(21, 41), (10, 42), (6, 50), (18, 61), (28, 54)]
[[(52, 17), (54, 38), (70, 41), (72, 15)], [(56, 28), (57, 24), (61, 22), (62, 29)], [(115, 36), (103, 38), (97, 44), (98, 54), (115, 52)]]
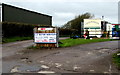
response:
[[(31, 40), (22, 43), (20, 42), (18, 45), (3, 45), (3, 73), (120, 72), (116, 69), (111, 60), (111, 55), (119, 50), (118, 41), (42, 50), (25, 49), (27, 45), (32, 44), (29, 42), (31, 42)], [(28, 44), (25, 45), (25, 43)]]

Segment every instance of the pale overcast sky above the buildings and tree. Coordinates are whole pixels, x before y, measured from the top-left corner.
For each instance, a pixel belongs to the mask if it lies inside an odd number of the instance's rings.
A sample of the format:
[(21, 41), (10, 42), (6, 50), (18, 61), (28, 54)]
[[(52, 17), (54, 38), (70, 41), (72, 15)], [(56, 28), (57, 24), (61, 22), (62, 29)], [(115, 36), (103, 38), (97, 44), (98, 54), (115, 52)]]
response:
[(62, 26), (75, 16), (89, 12), (95, 18), (118, 23), (119, 0), (0, 0), (2, 3), (52, 16), (53, 26)]

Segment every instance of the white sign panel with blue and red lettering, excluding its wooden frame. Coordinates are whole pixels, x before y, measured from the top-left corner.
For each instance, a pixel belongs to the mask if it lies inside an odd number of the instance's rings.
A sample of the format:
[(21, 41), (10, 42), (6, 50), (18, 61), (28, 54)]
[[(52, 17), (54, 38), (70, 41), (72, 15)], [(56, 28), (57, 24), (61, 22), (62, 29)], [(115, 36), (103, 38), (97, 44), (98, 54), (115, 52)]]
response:
[(34, 33), (35, 43), (56, 43), (56, 33)]

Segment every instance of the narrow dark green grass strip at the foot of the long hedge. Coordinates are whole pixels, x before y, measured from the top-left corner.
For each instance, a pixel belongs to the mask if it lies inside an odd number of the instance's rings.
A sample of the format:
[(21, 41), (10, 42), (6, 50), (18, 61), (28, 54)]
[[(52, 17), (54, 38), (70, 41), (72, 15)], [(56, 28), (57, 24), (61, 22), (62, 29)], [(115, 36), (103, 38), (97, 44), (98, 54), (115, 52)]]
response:
[(10, 37), (10, 38), (2, 38), (2, 43), (9, 43), (15, 41), (23, 41), (23, 40), (31, 40), (33, 37)]

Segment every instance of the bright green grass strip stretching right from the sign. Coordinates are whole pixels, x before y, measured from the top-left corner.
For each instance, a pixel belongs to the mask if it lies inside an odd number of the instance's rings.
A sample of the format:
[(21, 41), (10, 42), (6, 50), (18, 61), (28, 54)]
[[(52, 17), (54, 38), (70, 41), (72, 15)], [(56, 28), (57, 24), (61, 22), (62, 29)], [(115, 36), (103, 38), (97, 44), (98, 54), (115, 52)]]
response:
[(88, 44), (88, 43), (95, 43), (95, 42), (104, 42), (104, 41), (112, 41), (110, 39), (65, 39), (60, 40), (63, 44), (59, 44), (60, 47), (70, 47), (80, 44)]

